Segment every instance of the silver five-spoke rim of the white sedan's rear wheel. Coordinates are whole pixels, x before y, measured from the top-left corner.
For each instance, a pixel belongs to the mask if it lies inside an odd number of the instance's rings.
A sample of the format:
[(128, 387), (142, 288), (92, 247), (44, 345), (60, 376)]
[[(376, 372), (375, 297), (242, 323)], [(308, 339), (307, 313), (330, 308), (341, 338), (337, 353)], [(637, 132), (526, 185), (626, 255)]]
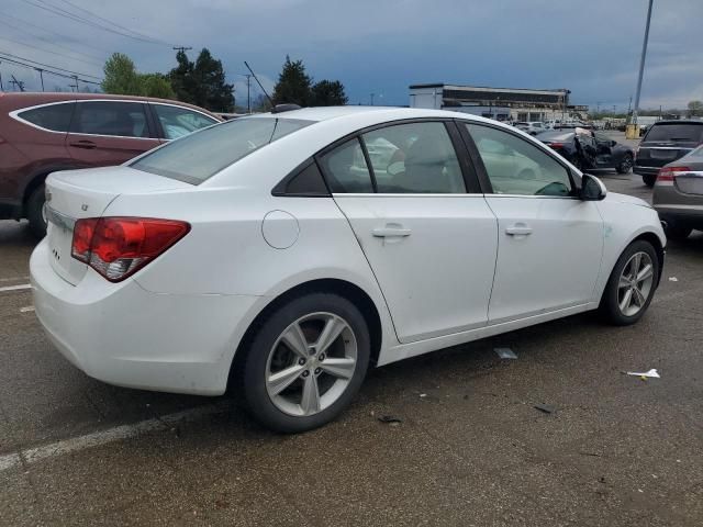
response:
[(332, 313), (305, 315), (283, 330), (269, 352), (266, 390), (282, 412), (308, 416), (333, 404), (354, 377), (357, 344)]

